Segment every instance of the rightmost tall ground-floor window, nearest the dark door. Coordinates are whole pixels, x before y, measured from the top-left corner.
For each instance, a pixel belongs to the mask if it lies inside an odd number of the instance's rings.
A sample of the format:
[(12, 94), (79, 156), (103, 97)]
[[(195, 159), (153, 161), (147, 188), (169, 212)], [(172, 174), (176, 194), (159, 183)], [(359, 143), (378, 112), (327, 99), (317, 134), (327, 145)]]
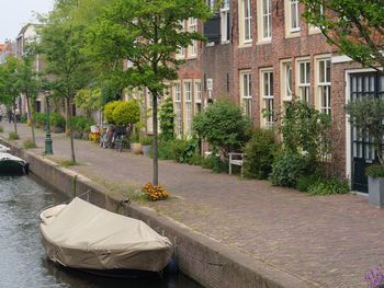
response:
[(318, 60), (317, 69), (320, 112), (330, 114), (330, 59)]

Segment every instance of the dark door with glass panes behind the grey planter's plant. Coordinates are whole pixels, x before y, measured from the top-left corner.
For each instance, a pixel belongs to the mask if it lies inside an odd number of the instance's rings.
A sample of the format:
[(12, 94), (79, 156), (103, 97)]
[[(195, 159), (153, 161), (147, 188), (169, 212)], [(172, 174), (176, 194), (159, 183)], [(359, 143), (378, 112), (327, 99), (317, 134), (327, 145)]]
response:
[[(351, 74), (351, 100), (374, 95), (384, 99), (384, 76), (377, 72)], [(365, 168), (379, 163), (370, 137), (362, 137), (355, 127), (352, 136), (352, 189), (368, 193)]]

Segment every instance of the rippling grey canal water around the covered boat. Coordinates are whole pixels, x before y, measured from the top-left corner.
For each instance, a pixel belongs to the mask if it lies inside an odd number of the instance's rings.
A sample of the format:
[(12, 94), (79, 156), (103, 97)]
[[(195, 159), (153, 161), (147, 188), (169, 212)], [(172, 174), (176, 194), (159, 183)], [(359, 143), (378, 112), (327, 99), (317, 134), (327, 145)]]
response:
[(41, 244), (39, 212), (65, 201), (30, 177), (0, 176), (0, 287), (7, 288), (201, 288), (183, 275), (165, 279), (108, 278), (63, 268)]

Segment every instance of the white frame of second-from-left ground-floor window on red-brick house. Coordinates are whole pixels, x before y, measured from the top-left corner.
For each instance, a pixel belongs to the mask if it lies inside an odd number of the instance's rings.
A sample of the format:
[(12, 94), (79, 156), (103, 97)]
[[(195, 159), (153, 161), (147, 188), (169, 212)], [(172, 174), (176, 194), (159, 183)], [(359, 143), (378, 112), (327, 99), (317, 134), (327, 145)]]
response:
[[(268, 81), (268, 87), (266, 90), (266, 76)], [(262, 124), (266, 128), (271, 128), (273, 126), (273, 111), (274, 111), (274, 96), (273, 96), (273, 70), (262, 69), (260, 70), (260, 90), (262, 100), (262, 110), (272, 111), (272, 114), (268, 117), (263, 117), (261, 113)]]

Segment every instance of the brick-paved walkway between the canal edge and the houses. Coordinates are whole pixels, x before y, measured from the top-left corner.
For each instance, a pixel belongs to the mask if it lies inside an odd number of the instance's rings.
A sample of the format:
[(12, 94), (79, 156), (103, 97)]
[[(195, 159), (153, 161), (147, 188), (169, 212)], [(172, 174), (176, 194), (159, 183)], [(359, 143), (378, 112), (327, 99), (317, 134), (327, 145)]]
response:
[[(2, 137), (13, 124), (0, 123)], [(30, 128), (18, 124), (21, 142)], [(69, 160), (69, 139), (53, 134), (52, 159)], [(36, 130), (44, 151), (45, 133)], [(72, 170), (110, 189), (127, 192), (151, 181), (151, 159), (76, 140)], [(154, 209), (255, 261), (273, 265), (320, 287), (366, 287), (364, 274), (384, 262), (384, 210), (352, 194), (310, 197), (264, 181), (212, 174), (200, 166), (159, 161), (159, 182), (179, 199)]]

